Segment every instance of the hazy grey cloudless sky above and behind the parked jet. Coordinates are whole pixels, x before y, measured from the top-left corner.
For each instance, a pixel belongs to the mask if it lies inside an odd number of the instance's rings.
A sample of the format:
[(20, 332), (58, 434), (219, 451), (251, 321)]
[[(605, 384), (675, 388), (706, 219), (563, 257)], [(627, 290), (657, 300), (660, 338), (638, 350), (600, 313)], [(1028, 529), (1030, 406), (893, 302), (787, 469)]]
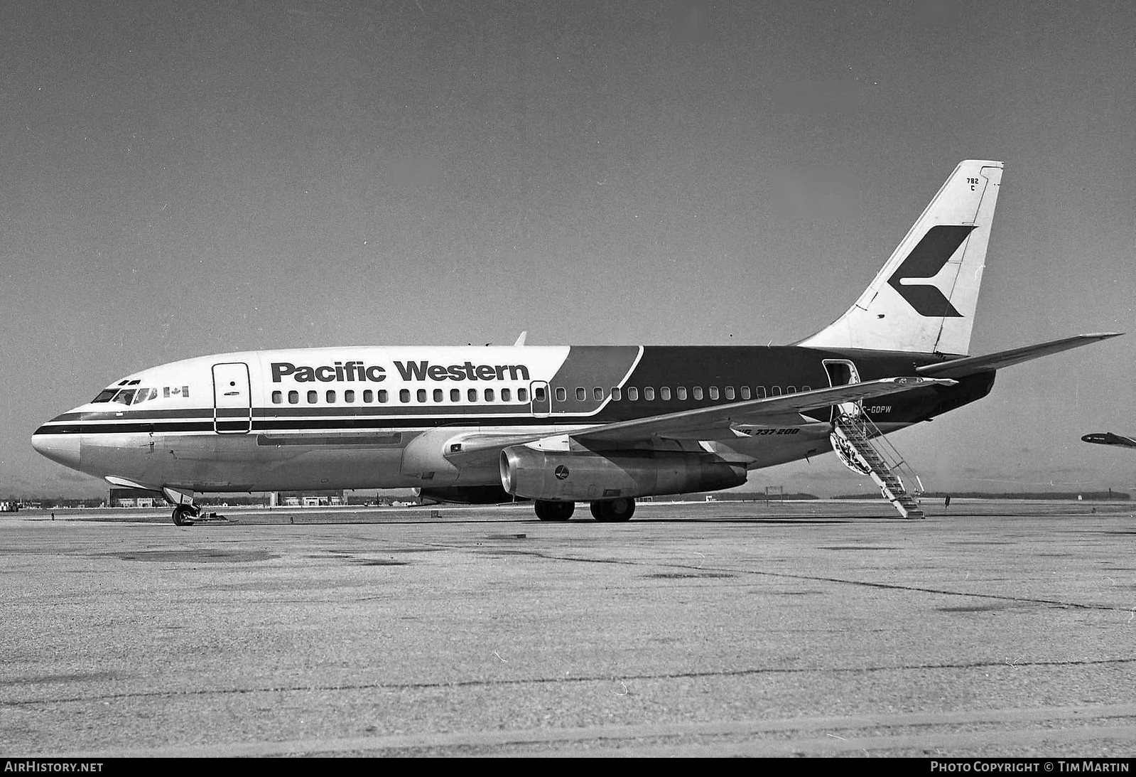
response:
[[(1136, 491), (1136, 3), (0, 0), (0, 494), (144, 367), (351, 344), (787, 343), (1005, 161), (927, 488)], [(834, 456), (750, 487), (870, 491)]]

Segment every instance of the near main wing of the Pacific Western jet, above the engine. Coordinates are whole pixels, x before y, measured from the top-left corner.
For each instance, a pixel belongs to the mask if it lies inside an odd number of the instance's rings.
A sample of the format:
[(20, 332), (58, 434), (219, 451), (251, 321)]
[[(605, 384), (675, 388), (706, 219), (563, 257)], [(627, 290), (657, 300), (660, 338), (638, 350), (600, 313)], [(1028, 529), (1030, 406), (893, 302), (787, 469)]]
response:
[[(648, 418), (615, 421), (590, 426), (571, 432), (558, 432), (574, 441), (612, 444), (643, 442), (651, 438), (663, 440), (717, 440), (734, 437), (730, 426), (802, 426), (816, 423), (803, 418), (805, 410), (824, 408), (842, 402), (855, 402), (871, 396), (897, 394), (928, 386), (950, 386), (957, 382), (950, 378), (891, 377), (866, 383), (852, 383), (829, 389), (802, 391), (795, 394), (744, 400), (728, 404), (717, 404), (695, 410), (680, 410)], [(520, 445), (549, 436), (548, 431), (532, 434), (492, 434), (473, 432), (456, 435), (446, 441), (445, 458), (457, 467), (466, 467), (500, 456), (509, 445)]]

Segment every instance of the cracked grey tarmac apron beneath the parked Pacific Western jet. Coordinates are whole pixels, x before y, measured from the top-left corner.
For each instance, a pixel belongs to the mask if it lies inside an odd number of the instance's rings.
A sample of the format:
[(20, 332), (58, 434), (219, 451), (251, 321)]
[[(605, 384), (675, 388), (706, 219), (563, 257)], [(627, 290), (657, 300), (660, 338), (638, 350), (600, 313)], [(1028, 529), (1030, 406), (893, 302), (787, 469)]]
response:
[(0, 516), (0, 758), (1136, 755), (1136, 506)]

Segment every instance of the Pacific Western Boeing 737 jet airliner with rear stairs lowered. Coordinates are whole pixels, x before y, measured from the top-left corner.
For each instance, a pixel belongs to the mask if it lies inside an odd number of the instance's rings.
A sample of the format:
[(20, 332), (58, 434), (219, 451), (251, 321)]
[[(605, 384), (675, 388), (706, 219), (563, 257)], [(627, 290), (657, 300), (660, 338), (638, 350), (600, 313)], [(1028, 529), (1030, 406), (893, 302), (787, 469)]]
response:
[(960, 162), (847, 311), (793, 344), (521, 335), (222, 353), (115, 381), (32, 445), (162, 494), (178, 526), (209, 492), (407, 487), (437, 502), (532, 500), (550, 521), (587, 502), (596, 520), (623, 521), (636, 499), (730, 488), (830, 450), (899, 508), (905, 490), (872, 440), (985, 396), (1003, 367), (1120, 334), (969, 356), (1002, 170)]

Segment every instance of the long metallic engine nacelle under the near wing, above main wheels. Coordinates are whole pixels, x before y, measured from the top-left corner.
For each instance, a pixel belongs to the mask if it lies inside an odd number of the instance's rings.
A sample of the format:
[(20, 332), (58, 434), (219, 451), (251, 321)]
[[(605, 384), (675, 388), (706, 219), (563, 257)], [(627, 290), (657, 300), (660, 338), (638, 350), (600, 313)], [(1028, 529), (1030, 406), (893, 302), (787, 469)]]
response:
[(501, 451), (501, 485), (510, 494), (554, 502), (682, 494), (745, 483), (745, 466), (716, 456), (671, 452)]

